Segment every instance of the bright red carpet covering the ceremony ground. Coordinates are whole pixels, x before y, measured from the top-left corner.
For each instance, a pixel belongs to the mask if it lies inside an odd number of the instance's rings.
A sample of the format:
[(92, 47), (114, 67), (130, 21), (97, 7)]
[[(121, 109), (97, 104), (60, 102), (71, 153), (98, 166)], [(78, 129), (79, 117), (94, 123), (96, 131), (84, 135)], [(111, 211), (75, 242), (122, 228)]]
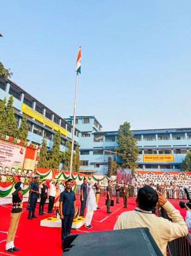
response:
[[(79, 195), (76, 196), (76, 206), (80, 207)], [(112, 214), (106, 213), (105, 196), (100, 196), (99, 207), (95, 211), (91, 225), (92, 229), (86, 229), (82, 226), (80, 229), (72, 229), (73, 233), (95, 232), (112, 230), (114, 228), (117, 217), (124, 211), (133, 210), (135, 208), (135, 198), (128, 198), (128, 208), (123, 208), (123, 199), (120, 198), (120, 204), (114, 204), (111, 207)], [(113, 197), (115, 200), (115, 197)], [(185, 217), (185, 209), (180, 209), (179, 205), (175, 205), (181, 211), (182, 216)], [(0, 256), (2, 255), (16, 255), (16, 256), (43, 256), (54, 255), (61, 256), (61, 228), (48, 228), (40, 226), (40, 220), (45, 219), (45, 216), (38, 216), (38, 205), (36, 208), (36, 215), (38, 219), (28, 220), (28, 210), (26, 210), (26, 203), (24, 203), (23, 213), (19, 222), (19, 227), (15, 237), (15, 246), (20, 249), (19, 252), (6, 253), (5, 244), (7, 230), (10, 222), (11, 205), (0, 205)], [(47, 212), (47, 204), (45, 205), (45, 212)]]

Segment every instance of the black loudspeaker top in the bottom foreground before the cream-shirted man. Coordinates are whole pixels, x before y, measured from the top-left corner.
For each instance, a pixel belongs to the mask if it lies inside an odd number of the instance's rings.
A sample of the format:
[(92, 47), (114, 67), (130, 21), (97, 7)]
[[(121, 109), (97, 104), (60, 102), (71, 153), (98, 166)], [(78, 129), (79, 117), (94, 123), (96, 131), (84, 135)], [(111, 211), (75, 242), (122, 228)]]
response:
[(62, 256), (163, 256), (147, 228), (66, 236)]

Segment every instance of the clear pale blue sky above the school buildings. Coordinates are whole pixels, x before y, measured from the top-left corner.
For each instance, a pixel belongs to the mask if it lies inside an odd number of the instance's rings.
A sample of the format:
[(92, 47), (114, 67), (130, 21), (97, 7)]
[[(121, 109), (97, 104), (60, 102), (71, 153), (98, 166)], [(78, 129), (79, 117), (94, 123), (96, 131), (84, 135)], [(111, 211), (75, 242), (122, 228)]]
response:
[(0, 61), (12, 80), (61, 117), (103, 131), (191, 127), (190, 0), (6, 0)]

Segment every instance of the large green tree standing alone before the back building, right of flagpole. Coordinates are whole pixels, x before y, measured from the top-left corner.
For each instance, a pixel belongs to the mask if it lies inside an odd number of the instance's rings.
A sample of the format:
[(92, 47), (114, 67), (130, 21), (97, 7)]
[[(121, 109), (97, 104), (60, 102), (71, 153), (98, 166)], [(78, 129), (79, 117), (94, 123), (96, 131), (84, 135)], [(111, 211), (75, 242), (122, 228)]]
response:
[(120, 125), (118, 130), (118, 135), (116, 136), (116, 141), (118, 147), (115, 148), (117, 154), (121, 158), (121, 167), (132, 170), (132, 175), (134, 174), (134, 169), (137, 167), (137, 161), (139, 159), (139, 148), (137, 142), (134, 139), (132, 132), (130, 131), (130, 123), (124, 122)]

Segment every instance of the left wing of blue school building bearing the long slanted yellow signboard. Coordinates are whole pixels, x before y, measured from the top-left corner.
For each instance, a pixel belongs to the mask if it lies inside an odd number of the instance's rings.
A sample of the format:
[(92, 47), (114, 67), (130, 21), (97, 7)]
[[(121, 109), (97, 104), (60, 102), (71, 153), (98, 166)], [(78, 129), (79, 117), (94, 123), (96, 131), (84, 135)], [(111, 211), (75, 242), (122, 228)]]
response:
[[(57, 130), (61, 132), (60, 150), (66, 151), (67, 141), (72, 140), (72, 125), (62, 117), (54, 113), (50, 108), (39, 102), (32, 95), (20, 88), (13, 81), (5, 81), (0, 78), (0, 100), (13, 95), (13, 108), (18, 126), (21, 124), (23, 115), (27, 116), (28, 137), (27, 141), (41, 145), (43, 136), (46, 135), (47, 148), (51, 149), (53, 135)], [(78, 131), (75, 129), (74, 148), (78, 144)], [(62, 168), (62, 164), (60, 165)]]

